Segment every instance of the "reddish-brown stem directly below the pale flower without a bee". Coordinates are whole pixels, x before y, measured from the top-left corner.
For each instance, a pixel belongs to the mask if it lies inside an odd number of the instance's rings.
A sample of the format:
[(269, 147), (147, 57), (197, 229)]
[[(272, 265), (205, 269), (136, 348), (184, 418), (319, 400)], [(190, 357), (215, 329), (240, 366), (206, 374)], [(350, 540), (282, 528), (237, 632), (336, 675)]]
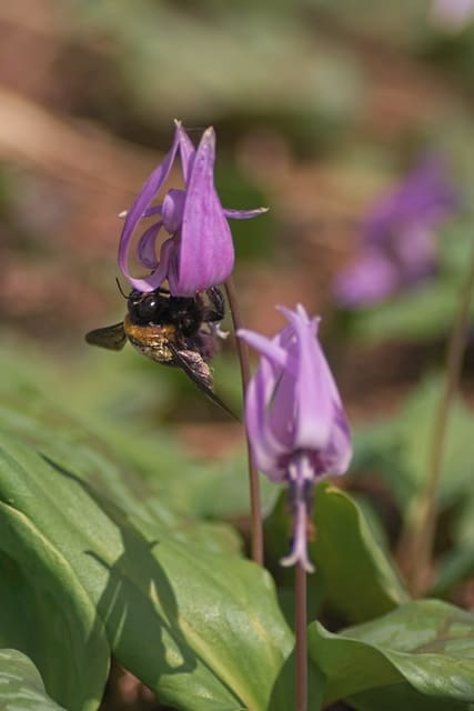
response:
[(294, 631), (295, 651), (295, 711), (307, 711), (307, 615), (306, 571), (301, 562), (295, 570)]

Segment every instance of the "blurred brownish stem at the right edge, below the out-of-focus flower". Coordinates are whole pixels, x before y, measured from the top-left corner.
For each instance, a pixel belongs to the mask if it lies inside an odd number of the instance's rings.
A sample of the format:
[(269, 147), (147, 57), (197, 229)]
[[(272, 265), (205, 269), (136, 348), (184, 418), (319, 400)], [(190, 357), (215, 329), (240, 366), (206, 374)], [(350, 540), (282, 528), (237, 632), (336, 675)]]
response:
[(422, 595), (430, 585), (430, 563), (436, 528), (436, 494), (442, 471), (447, 420), (461, 380), (473, 291), (474, 251), (447, 346), (446, 378), (435, 412), (426, 484), (416, 507), (414, 507), (417, 512), (416, 519), (412, 525), (409, 524), (401, 544), (401, 562), (406, 572), (410, 590), (415, 597)]

